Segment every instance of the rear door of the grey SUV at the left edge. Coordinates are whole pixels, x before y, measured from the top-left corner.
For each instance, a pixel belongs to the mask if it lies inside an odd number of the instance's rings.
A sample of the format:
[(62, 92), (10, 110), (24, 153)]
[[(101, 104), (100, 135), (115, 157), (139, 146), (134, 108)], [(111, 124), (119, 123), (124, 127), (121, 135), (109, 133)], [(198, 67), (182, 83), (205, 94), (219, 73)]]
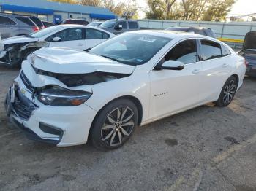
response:
[(9, 17), (0, 16), (0, 33), (1, 38), (6, 39), (13, 36), (18, 30), (17, 23)]

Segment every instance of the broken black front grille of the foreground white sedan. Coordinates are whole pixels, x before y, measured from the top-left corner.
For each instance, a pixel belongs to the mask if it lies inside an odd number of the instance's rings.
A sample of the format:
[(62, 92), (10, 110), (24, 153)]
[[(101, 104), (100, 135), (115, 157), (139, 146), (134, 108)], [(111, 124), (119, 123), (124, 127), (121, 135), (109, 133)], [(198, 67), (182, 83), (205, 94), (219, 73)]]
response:
[(12, 104), (12, 112), (22, 120), (29, 120), (32, 112), (39, 106), (26, 98), (19, 89), (15, 92), (15, 102)]

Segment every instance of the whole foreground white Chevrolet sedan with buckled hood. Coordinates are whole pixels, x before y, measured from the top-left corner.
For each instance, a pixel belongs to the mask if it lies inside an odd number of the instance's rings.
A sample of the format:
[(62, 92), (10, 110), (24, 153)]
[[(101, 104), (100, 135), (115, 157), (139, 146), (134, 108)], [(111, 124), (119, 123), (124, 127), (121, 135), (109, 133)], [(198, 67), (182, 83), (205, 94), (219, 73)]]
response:
[(207, 36), (132, 31), (89, 50), (42, 48), (23, 61), (5, 101), (32, 139), (114, 149), (135, 127), (196, 106), (227, 106), (244, 58)]

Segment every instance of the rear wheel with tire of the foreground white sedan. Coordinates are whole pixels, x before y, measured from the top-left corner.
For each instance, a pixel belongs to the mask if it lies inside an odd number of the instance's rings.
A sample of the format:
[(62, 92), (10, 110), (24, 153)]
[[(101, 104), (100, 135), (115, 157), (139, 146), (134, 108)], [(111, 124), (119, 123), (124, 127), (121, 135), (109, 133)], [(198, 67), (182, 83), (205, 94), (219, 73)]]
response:
[(214, 102), (216, 106), (228, 106), (236, 94), (236, 89), (238, 87), (238, 81), (236, 77), (229, 77), (222, 87), (222, 92), (219, 95), (219, 99)]

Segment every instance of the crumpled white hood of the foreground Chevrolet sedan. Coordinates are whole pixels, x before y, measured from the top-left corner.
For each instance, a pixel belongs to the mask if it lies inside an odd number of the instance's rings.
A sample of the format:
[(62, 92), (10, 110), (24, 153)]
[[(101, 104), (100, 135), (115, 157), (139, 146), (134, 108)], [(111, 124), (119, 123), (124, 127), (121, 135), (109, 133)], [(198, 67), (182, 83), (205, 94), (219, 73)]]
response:
[(42, 48), (31, 54), (28, 60), (37, 69), (59, 74), (88, 74), (95, 71), (132, 74), (135, 70), (135, 66), (67, 48)]

